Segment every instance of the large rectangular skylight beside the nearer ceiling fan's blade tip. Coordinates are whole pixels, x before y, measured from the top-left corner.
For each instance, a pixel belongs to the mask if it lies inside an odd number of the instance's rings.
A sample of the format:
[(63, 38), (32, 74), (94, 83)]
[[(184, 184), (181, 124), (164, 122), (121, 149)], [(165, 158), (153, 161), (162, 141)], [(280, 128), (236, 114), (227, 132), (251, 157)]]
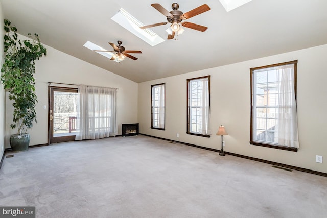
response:
[(138, 38), (147, 42), (151, 46), (155, 46), (165, 40), (149, 29), (140, 29), (145, 26), (141, 21), (130, 15), (127, 11), (121, 8), (118, 13), (111, 17), (113, 21), (124, 27), (129, 32), (133, 33)]

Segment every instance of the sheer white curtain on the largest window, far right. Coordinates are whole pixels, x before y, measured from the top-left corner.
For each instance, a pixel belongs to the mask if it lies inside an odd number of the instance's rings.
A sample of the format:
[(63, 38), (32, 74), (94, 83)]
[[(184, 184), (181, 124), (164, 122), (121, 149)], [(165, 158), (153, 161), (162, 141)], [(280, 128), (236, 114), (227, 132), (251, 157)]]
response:
[(293, 64), (278, 67), (277, 78), (278, 144), (299, 148)]

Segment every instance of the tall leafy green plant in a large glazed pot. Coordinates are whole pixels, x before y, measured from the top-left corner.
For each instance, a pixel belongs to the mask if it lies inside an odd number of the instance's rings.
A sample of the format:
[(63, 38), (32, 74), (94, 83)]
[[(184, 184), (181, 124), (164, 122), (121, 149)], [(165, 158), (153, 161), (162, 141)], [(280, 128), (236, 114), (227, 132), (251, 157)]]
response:
[(10, 136), (12, 151), (26, 151), (30, 143), (27, 129), (36, 122), (35, 104), (35, 60), (46, 55), (46, 48), (41, 44), (37, 34), (31, 40), (18, 40), (17, 28), (5, 19), (4, 64), (1, 68), (1, 82), (13, 100), (12, 129), (17, 128), (17, 134)]

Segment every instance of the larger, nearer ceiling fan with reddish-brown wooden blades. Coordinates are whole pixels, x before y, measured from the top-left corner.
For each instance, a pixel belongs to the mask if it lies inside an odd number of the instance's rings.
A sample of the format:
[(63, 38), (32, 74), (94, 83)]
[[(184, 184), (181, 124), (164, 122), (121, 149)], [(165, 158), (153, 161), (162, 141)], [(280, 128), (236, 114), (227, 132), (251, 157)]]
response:
[(208, 29), (207, 27), (197, 25), (195, 23), (182, 22), (185, 19), (189, 19), (191, 17), (194, 17), (196, 15), (202, 14), (202, 13), (210, 10), (209, 6), (206, 4), (201, 5), (201, 6), (195, 8), (189, 12), (186, 12), (186, 13), (183, 13), (178, 10), (179, 5), (177, 3), (172, 4), (173, 10), (171, 12), (166, 10), (164, 7), (162, 7), (158, 3), (151, 4), (151, 6), (154, 7), (155, 9), (157, 9), (161, 14), (164, 14), (167, 17), (168, 22), (160, 22), (160, 23), (154, 23), (152, 25), (146, 25), (146, 26), (140, 27), (141, 29), (147, 29), (150, 27), (156, 27), (156, 26), (160, 26), (160, 25), (166, 25), (167, 23), (171, 23), (170, 27), (171, 27), (172, 31), (169, 32), (168, 39), (173, 39), (175, 37), (175, 32), (177, 32), (177, 34), (182, 33), (183, 30), (179, 24), (181, 24), (183, 27), (188, 27), (188, 28), (202, 31), (202, 32), (204, 32), (206, 29)]

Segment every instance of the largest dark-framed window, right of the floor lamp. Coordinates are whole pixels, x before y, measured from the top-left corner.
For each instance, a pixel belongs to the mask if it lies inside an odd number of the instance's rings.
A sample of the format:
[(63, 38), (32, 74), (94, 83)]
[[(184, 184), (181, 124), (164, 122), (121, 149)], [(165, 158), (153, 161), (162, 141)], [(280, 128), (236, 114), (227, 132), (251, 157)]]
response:
[(250, 69), (250, 144), (297, 151), (297, 60)]

